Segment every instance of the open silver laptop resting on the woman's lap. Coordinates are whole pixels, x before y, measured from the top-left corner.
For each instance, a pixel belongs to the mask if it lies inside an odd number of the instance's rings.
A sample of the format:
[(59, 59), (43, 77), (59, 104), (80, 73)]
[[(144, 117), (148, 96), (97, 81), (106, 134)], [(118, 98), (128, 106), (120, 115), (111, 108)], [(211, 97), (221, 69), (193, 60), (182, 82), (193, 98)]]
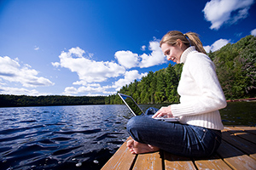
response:
[[(134, 116), (140, 116), (144, 114), (143, 110), (140, 108), (139, 105), (137, 105), (136, 101), (132, 99), (131, 96), (125, 95), (125, 94), (119, 94), (119, 97), (123, 100), (125, 105), (128, 107), (128, 109), (131, 111), (131, 113)], [(160, 120), (160, 121), (165, 121), (165, 122), (178, 122), (179, 117), (155, 117), (154, 119)]]

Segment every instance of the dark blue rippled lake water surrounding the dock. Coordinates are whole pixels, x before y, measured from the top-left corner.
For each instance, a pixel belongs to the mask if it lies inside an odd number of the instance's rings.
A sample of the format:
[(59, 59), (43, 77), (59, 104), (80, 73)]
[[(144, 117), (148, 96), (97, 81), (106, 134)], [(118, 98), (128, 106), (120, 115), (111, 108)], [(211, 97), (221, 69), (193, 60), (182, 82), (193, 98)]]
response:
[[(255, 111), (256, 102), (229, 103), (221, 115), (255, 126)], [(0, 108), (0, 169), (100, 169), (128, 138), (130, 118), (125, 105)]]

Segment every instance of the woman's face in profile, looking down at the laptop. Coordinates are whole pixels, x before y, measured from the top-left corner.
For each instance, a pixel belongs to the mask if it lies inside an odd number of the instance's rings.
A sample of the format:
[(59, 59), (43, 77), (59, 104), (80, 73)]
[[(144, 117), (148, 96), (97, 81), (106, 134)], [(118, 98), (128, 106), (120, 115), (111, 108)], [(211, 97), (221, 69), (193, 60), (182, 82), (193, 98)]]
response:
[(175, 45), (170, 45), (168, 43), (163, 43), (161, 45), (162, 52), (166, 55), (168, 60), (172, 60), (177, 64), (180, 63), (180, 57), (183, 54), (183, 48), (181, 42), (177, 42)]

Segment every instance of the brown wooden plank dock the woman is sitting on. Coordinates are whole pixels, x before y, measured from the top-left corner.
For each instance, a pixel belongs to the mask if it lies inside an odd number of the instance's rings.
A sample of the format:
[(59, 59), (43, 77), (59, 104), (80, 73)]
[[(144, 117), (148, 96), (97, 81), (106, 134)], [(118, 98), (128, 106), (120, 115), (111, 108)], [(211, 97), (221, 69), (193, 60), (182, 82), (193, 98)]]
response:
[(132, 155), (126, 142), (102, 170), (256, 169), (256, 127), (224, 127), (217, 154), (205, 159), (175, 156), (165, 151)]

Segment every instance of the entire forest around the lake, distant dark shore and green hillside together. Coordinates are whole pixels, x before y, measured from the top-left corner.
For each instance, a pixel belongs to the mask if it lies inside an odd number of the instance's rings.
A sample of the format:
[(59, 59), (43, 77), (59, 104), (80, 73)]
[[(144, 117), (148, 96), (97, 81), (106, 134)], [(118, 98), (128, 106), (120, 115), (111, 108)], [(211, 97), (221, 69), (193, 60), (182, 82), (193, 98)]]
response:
[[(210, 52), (208, 56), (216, 66), (226, 99), (256, 97), (256, 37), (243, 37), (236, 43), (228, 43), (218, 51)], [(169, 64), (160, 71), (149, 71), (141, 81), (134, 80), (118, 93), (131, 95), (139, 104), (177, 103), (177, 85), (182, 69), (183, 64)], [(98, 97), (0, 94), (0, 107), (105, 104), (122, 104), (122, 100), (117, 94)]]

